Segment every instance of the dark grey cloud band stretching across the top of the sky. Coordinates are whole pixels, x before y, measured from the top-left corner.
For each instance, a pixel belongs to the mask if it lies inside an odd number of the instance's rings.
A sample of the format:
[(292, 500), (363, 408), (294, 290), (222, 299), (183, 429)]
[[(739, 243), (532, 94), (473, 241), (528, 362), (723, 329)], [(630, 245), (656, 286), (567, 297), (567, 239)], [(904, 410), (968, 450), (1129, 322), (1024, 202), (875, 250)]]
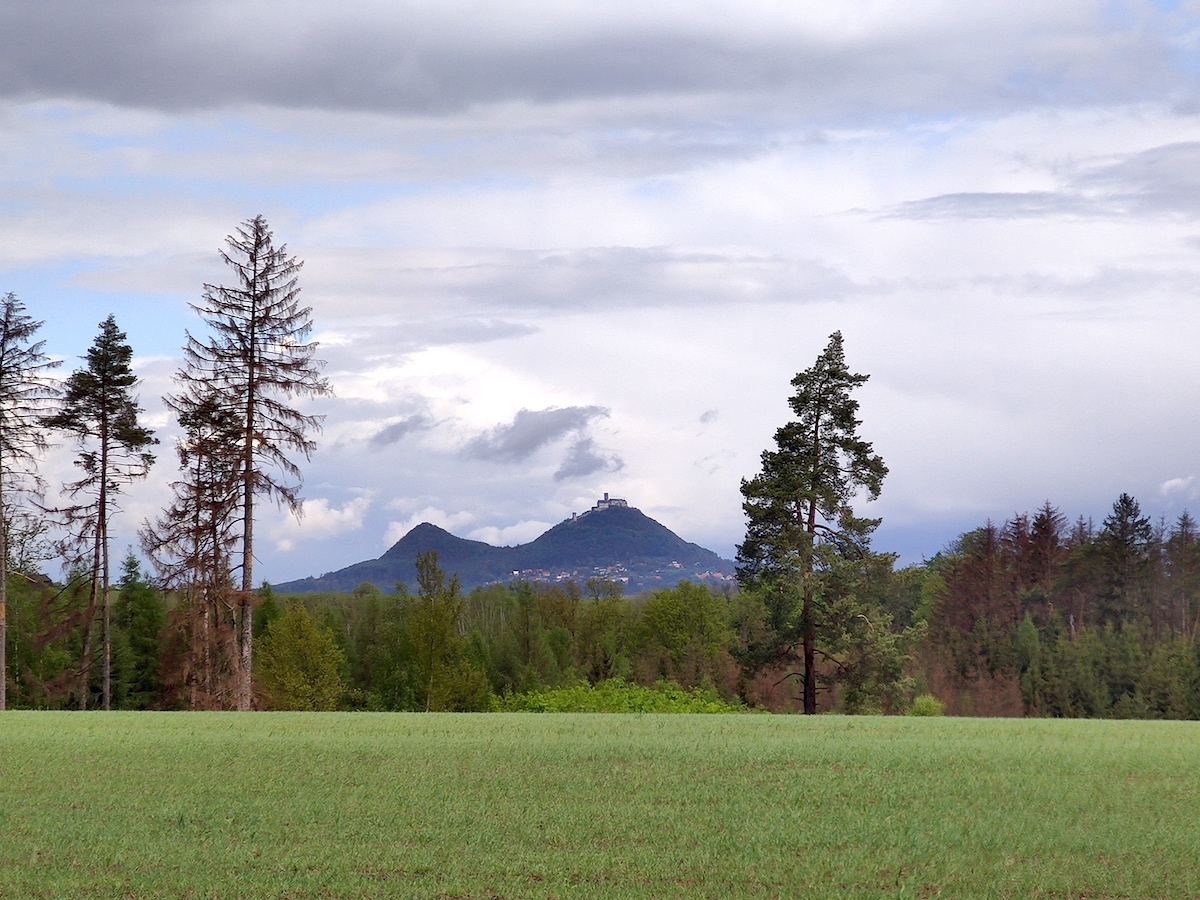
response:
[(0, 6), (0, 92), (415, 114), (691, 95), (746, 113), (756, 98), (755, 115), (853, 119), (1139, 98), (1182, 79), (1153, 29), (1111, 34), (1086, 6), (962, 22), (924, 11), (925, 28), (838, 38), (782, 18), (766, 26), (761, 12), (742, 28), (752, 12), (731, 5), (727, 20), (700, 25), (684, 7), (668, 20), (636, 5), (587, 22), (520, 5), (500, 19), (482, 4), (18, 0)]

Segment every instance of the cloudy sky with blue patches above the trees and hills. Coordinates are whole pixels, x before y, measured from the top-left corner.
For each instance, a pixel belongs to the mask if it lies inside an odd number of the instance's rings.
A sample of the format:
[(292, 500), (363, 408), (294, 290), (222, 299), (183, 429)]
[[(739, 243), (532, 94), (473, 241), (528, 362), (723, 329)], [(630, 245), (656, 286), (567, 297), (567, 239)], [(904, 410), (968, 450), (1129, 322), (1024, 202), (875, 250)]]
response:
[[(188, 306), (256, 215), (335, 396), (256, 580), (604, 492), (732, 557), (829, 335), (875, 547), (1200, 511), (1200, 2), (0, 1), (0, 292), (128, 335), (169, 498)], [(43, 474), (72, 474), (73, 448)]]

